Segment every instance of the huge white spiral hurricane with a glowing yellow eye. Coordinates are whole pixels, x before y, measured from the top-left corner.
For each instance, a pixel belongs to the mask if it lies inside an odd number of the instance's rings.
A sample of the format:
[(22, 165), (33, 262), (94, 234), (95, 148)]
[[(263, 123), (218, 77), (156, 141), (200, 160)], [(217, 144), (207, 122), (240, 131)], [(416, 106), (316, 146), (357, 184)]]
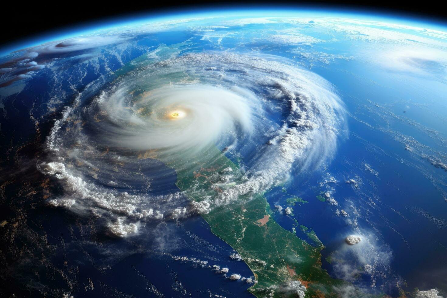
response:
[[(65, 110), (47, 140), (48, 160), (39, 164), (63, 186), (47, 204), (101, 217), (118, 236), (149, 220), (207, 213), (325, 162), (343, 111), (327, 81), (287, 59), (160, 57), (107, 86), (92, 84)], [(240, 171), (212, 179), (211, 187), (223, 189), (218, 196), (204, 191), (194, 202), (178, 189), (157, 191), (173, 184), (170, 168), (200, 167), (211, 148), (240, 161)]]

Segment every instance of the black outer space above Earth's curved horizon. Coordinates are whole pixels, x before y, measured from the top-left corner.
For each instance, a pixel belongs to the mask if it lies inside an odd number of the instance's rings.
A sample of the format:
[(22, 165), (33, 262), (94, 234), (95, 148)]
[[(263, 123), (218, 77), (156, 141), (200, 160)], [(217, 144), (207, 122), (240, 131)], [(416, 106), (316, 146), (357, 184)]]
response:
[[(438, 5), (437, 5), (437, 4)], [(152, 3), (150, 0), (142, 4), (137, 2), (98, 1), (90, 2), (63, 2), (56, 3), (34, 1), (24, 4), (16, 1), (9, 2), (8, 11), (2, 14), (2, 34), (0, 47), (23, 39), (33, 38), (51, 31), (69, 29), (76, 25), (85, 25), (114, 17), (131, 16), (144, 13), (169, 13), (177, 11), (194, 11), (207, 7), (232, 7), (242, 5), (245, 8), (256, 8), (259, 5), (287, 5), (311, 8), (333, 8), (360, 10), (367, 13), (399, 13), (409, 17), (426, 18), (435, 22), (447, 23), (447, 10), (439, 7), (440, 1), (349, 1), (349, 0), (315, 0), (315, 1), (161, 1)], [(5, 4), (3, 4), (4, 6)]]

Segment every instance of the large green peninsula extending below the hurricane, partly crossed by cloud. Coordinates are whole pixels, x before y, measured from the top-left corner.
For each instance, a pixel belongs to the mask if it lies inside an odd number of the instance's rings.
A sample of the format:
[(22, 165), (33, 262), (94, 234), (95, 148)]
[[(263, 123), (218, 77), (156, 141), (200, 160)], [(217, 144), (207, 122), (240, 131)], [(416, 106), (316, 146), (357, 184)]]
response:
[[(208, 157), (206, 161), (202, 158), (204, 155)], [(177, 161), (169, 160), (169, 157), (159, 158), (169, 167), (176, 168)], [(177, 171), (177, 186), (194, 201), (219, 197), (223, 189), (213, 185), (216, 177), (228, 168), (232, 172), (240, 172), (230, 159), (211, 146), (200, 155), (200, 162), (194, 163), (193, 160), (190, 168)], [(242, 180), (236, 183), (242, 183)], [(210, 225), (211, 231), (234, 248), (249, 265), (258, 281), (250, 291), (257, 297), (266, 297), (270, 294), (270, 287), (292, 280), (301, 281), (309, 297), (335, 297), (333, 286), (344, 282), (329, 277), (321, 269), (320, 249), (323, 246), (315, 232), (308, 235), (318, 244), (317, 248), (284, 230), (270, 215), (266, 198), (263, 194), (254, 193), (240, 196), (228, 205), (202, 214), (202, 217)], [(277, 290), (274, 297), (280, 297)]]

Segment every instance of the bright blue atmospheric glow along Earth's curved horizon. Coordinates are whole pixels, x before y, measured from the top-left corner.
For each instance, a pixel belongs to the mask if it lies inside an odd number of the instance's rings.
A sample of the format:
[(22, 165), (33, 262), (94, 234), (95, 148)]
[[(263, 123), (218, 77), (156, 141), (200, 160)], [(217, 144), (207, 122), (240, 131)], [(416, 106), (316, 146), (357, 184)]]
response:
[[(370, 10), (371, 11), (371, 10)], [(92, 21), (84, 25), (76, 25), (60, 30), (52, 30), (44, 34), (23, 39), (4, 46), (0, 50), (0, 56), (8, 55), (13, 51), (31, 46), (37, 46), (46, 42), (75, 38), (83, 35), (95, 34), (120, 27), (134, 27), (155, 22), (176, 21), (189, 18), (213, 18), (213, 17), (340, 17), (346, 19), (361, 19), (364, 21), (384, 21), (399, 25), (419, 26), (434, 30), (446, 30), (445, 22), (428, 20), (426, 17), (412, 16), (404, 13), (390, 13), (374, 11), (367, 13), (360, 9), (333, 9), (315, 7), (284, 7), (284, 6), (259, 6), (258, 9), (238, 6), (231, 9), (227, 6), (223, 10), (213, 8), (190, 8), (181, 12), (158, 11), (153, 13), (135, 13), (122, 17), (110, 17), (99, 21)]]

